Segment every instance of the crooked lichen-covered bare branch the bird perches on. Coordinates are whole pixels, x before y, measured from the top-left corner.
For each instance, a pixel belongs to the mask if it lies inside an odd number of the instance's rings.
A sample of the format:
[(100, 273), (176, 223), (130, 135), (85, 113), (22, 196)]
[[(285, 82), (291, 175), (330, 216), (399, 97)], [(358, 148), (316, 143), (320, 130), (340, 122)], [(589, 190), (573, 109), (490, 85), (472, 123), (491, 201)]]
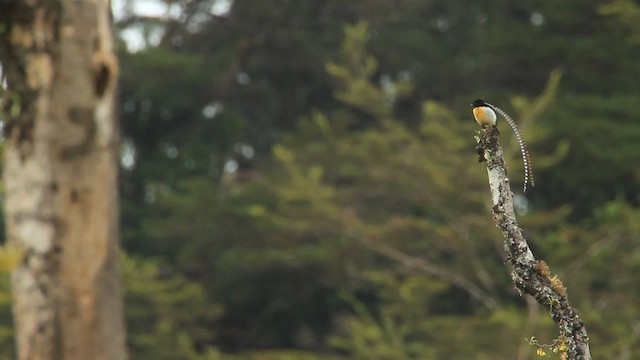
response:
[(513, 210), (513, 194), (507, 178), (502, 147), (495, 127), (482, 129), (478, 141), (480, 161), (487, 165), (496, 226), (502, 230), (511, 278), (520, 291), (536, 299), (549, 312), (560, 331), (566, 355), (571, 360), (589, 360), (589, 337), (578, 312), (571, 307), (562, 282), (552, 276), (547, 264), (536, 260)]

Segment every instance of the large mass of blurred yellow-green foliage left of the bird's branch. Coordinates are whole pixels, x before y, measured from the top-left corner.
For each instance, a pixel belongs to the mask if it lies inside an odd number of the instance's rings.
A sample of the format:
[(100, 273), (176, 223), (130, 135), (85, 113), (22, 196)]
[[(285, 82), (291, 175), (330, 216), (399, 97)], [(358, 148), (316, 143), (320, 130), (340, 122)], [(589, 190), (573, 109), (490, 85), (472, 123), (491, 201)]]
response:
[[(158, 198), (162, 215), (145, 227), (156, 247), (169, 246), (182, 268), (212, 284), (210, 296), (225, 309), (226, 346), (326, 347), (330, 339), (354, 358), (445, 356), (452, 351), (438, 344), (459, 322), (468, 322), (460, 335), (471, 336), (507, 321), (491, 320), (446, 276), (398, 259), (430, 259), (463, 278), (484, 274), (487, 296), (508, 288), (495, 229), (482, 220), (484, 171), (469, 166), (477, 161), (473, 130), (433, 101), (415, 125), (394, 119), (390, 101), (389, 110), (368, 112), (374, 123), (351, 130), (359, 111), (378, 106), (370, 94), (382, 90), (349, 65), (356, 56), (348, 51), (369, 56), (362, 25), (350, 29), (344, 62), (328, 67), (336, 93), (350, 94), (344, 110), (312, 112), (273, 147), (270, 161), (228, 174), (215, 191), (201, 178), (180, 182)], [(506, 313), (522, 322), (517, 308)], [(335, 321), (343, 334), (332, 335)], [(482, 353), (477, 347), (491, 348), (495, 336), (475, 336), (455, 353)], [(513, 334), (501, 336), (517, 344)]]

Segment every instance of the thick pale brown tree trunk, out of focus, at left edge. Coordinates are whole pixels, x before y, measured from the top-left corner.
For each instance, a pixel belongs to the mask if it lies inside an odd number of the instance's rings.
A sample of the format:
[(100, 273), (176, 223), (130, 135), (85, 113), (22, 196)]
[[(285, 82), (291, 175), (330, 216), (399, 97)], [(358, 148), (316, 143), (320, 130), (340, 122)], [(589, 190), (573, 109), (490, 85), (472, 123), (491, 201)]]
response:
[(2, 0), (8, 241), (20, 360), (125, 359), (108, 0)]

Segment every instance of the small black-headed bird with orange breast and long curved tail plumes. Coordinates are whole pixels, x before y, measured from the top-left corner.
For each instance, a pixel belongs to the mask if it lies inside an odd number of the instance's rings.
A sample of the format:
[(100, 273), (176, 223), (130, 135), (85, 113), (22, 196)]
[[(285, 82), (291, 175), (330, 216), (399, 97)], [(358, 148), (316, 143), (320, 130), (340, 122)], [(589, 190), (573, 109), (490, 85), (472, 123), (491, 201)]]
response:
[(522, 153), (522, 162), (524, 163), (524, 187), (523, 192), (527, 191), (527, 184), (531, 184), (531, 187), (535, 186), (533, 181), (533, 169), (531, 168), (531, 158), (529, 157), (529, 151), (527, 150), (527, 145), (520, 134), (520, 130), (518, 130), (518, 126), (516, 122), (511, 119), (511, 117), (502, 109), (495, 105), (491, 105), (484, 100), (477, 99), (471, 103), (473, 107), (473, 117), (476, 119), (478, 124), (482, 125), (483, 128), (487, 126), (496, 126), (497, 116), (496, 112), (500, 114), (509, 124), (513, 133), (516, 135), (516, 139), (518, 140), (518, 145), (520, 145), (520, 152)]

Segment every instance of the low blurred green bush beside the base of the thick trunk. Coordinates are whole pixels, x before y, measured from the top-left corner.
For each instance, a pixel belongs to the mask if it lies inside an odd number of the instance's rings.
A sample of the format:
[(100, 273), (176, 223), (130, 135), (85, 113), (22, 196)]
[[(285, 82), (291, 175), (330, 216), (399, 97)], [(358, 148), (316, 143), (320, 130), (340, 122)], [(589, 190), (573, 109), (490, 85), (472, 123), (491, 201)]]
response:
[[(210, 343), (209, 326), (220, 306), (180, 275), (163, 274), (150, 260), (122, 257), (128, 345), (135, 359), (200, 359), (196, 346)], [(213, 360), (213, 352), (202, 360)]]

